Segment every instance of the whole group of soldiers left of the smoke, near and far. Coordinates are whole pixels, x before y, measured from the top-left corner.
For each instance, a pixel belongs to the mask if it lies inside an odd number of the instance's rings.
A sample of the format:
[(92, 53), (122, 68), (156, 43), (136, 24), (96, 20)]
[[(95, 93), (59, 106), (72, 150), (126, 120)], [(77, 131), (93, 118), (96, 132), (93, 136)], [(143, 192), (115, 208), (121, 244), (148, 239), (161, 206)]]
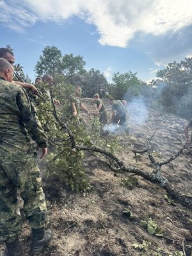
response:
[[(36, 115), (36, 99), (31, 100), (31, 90), (37, 95), (47, 95), (51, 100), (50, 88), (53, 78), (46, 74), (37, 77), (36, 84), (13, 81), (15, 56), (12, 51), (0, 48), (0, 242), (6, 244), (6, 256), (20, 256), (19, 234), (22, 228), (22, 216), (17, 207), (17, 192), (23, 199), (23, 211), (31, 227), (31, 252), (40, 252), (52, 239), (52, 231), (45, 229), (47, 206), (42, 189), (41, 172), (35, 161), (33, 141), (41, 148), (40, 158), (47, 154), (47, 135)], [(48, 84), (48, 88), (45, 86)], [(72, 117), (81, 125), (80, 109), (91, 115), (81, 102), (81, 87), (76, 86), (71, 97)], [(42, 99), (44, 99), (42, 97)], [(93, 95), (95, 115), (102, 124), (106, 124), (106, 107)], [(57, 99), (54, 104), (60, 105)], [(35, 104), (34, 104), (35, 103)], [(120, 100), (109, 99), (113, 115), (111, 122), (121, 124), (125, 121), (125, 108)], [(120, 121), (119, 121), (120, 120)]]

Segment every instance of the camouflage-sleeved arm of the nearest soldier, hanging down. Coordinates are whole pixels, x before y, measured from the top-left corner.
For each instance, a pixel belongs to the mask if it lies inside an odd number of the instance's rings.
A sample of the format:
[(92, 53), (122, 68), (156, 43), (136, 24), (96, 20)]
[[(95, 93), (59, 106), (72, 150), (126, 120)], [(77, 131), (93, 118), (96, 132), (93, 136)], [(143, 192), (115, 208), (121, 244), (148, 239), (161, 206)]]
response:
[(39, 147), (47, 148), (47, 136), (38, 120), (35, 106), (22, 88), (19, 88), (17, 93), (17, 106), (22, 122), (26, 125), (26, 129), (33, 134), (33, 140), (36, 141)]

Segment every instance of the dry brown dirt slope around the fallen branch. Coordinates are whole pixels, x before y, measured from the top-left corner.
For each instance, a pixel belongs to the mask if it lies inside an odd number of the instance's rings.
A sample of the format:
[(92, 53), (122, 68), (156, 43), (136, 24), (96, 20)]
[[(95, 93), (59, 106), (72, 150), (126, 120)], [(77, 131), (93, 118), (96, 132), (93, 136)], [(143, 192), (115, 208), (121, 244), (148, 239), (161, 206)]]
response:
[[(93, 111), (91, 99), (84, 99)], [(107, 104), (107, 103), (106, 103)], [(109, 106), (108, 106), (109, 108)], [(85, 114), (86, 115), (86, 114)], [(88, 119), (89, 117), (86, 116)], [(127, 165), (151, 172), (152, 164), (147, 154), (138, 156), (138, 162), (131, 147), (143, 148), (145, 140), (154, 132), (152, 145), (156, 156), (167, 159), (185, 143), (183, 127), (186, 120), (174, 115), (164, 115), (147, 110), (143, 105), (128, 105), (128, 128), (130, 135), (117, 135), (122, 150), (116, 153)], [(191, 195), (191, 150), (185, 151), (172, 163), (162, 168), (163, 175), (182, 193)], [(169, 204), (165, 191), (147, 180), (136, 177), (138, 184), (132, 188), (122, 185), (122, 179), (130, 174), (117, 176), (108, 166), (92, 154), (84, 161), (92, 190), (86, 195), (72, 193), (60, 182), (47, 186), (44, 190), (49, 211), (49, 227), (54, 237), (39, 255), (55, 256), (137, 256), (137, 255), (192, 255), (191, 211), (180, 204)], [(44, 168), (44, 163), (40, 163)], [(133, 218), (125, 213), (128, 209)], [(141, 220), (156, 221), (163, 230), (164, 237), (148, 234)], [(30, 230), (26, 222), (20, 236), (23, 255), (29, 254)], [(136, 250), (132, 244), (148, 242), (146, 251)], [(187, 246), (187, 247), (186, 247)], [(191, 247), (192, 248), (192, 247)], [(3, 255), (4, 246), (0, 246)], [(180, 252), (180, 254), (179, 254)]]

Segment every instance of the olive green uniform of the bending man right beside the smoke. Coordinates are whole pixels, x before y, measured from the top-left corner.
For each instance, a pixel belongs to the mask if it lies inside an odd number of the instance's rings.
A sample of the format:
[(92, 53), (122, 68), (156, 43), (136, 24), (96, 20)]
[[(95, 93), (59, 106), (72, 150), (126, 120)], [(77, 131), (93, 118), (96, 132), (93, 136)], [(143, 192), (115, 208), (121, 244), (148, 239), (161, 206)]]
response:
[(112, 105), (112, 111), (116, 111), (116, 115), (113, 118), (113, 124), (123, 125), (126, 118), (126, 110), (120, 100), (115, 100)]

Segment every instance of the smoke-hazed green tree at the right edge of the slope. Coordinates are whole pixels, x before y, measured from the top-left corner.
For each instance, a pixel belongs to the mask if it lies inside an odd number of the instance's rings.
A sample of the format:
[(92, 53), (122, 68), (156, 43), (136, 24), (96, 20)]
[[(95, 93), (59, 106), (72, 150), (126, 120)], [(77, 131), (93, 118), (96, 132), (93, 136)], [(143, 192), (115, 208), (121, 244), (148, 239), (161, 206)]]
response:
[(192, 58), (184, 61), (169, 63), (166, 68), (157, 72), (157, 77), (164, 83), (159, 102), (164, 111), (191, 118), (192, 108)]

